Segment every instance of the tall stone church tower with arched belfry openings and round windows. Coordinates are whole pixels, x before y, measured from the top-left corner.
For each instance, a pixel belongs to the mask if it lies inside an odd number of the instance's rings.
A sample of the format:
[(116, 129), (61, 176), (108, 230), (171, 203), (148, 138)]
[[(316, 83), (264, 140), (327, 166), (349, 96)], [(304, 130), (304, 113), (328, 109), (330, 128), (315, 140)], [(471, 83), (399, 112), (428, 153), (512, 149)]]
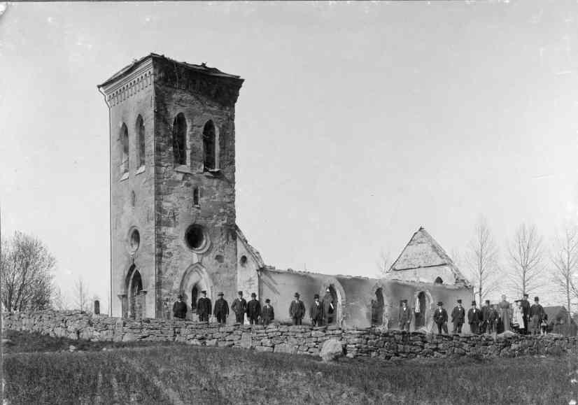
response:
[(243, 79), (150, 54), (99, 85), (110, 111), (111, 315), (171, 317), (237, 290), (234, 106)]

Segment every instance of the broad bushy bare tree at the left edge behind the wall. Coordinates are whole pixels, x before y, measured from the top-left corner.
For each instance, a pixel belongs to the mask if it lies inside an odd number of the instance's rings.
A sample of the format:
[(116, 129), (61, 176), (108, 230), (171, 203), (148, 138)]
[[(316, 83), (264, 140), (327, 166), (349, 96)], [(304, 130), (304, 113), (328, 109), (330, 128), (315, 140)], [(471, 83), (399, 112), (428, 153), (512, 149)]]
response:
[(7, 311), (45, 309), (52, 296), (56, 260), (34, 236), (15, 232), (2, 241), (1, 300)]

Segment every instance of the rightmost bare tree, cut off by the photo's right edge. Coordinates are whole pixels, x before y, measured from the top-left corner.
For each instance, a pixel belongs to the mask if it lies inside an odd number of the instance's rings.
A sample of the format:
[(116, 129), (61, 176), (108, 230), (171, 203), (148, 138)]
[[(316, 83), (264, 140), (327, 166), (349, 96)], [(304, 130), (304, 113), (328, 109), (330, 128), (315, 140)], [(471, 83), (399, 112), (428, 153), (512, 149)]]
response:
[(568, 308), (568, 325), (572, 320), (570, 304), (578, 299), (578, 227), (565, 225), (561, 234), (558, 234), (551, 255), (554, 271), (552, 279), (558, 292), (564, 294)]

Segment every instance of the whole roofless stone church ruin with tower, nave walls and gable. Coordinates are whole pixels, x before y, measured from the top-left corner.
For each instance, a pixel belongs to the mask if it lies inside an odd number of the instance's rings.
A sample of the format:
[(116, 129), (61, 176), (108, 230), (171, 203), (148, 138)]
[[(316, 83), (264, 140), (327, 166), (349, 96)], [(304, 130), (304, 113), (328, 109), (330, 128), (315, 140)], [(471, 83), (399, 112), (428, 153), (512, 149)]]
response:
[(331, 297), (334, 323), (346, 328), (397, 327), (408, 299), (414, 329), (431, 327), (437, 301), (472, 299), (423, 228), (379, 279), (265, 264), (235, 220), (234, 108), (243, 82), (151, 53), (98, 86), (110, 117), (111, 315), (169, 318), (183, 294), (194, 316), (202, 290), (213, 302), (220, 291), (232, 301), (242, 290), (271, 299), (277, 320), (288, 320), (297, 291), (306, 306), (313, 294)]

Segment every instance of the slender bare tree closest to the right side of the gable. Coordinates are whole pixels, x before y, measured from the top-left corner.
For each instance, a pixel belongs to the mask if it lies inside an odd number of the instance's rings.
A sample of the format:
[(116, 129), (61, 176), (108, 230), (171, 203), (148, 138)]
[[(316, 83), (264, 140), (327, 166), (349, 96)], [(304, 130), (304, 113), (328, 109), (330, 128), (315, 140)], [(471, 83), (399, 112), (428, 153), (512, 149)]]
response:
[(496, 245), (485, 218), (480, 218), (474, 230), (474, 238), (465, 254), (467, 269), (472, 274), (479, 302), (498, 287), (498, 246)]

